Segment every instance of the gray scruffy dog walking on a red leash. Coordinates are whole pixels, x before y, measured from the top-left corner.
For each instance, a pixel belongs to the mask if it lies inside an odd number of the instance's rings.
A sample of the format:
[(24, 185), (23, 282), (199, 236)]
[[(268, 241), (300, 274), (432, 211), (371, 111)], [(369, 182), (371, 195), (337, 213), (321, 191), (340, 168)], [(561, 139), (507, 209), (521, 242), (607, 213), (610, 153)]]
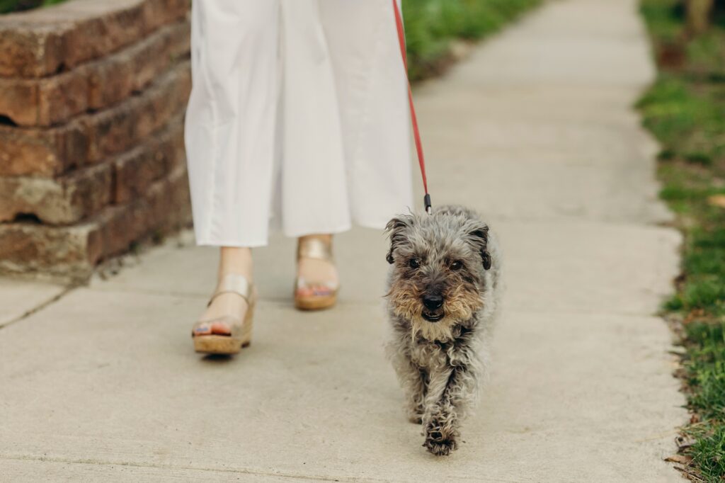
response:
[(394, 332), (387, 350), (410, 421), (423, 425), (423, 446), (448, 455), (486, 378), (502, 292), (500, 250), (489, 226), (463, 207), (399, 215), (386, 230)]

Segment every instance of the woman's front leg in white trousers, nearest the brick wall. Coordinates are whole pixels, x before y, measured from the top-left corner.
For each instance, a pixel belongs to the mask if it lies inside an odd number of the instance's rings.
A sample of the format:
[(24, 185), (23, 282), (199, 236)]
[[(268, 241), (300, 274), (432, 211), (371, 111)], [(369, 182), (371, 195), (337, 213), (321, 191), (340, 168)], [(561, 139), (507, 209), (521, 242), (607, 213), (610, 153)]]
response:
[[(225, 276), (252, 282), (251, 247), (267, 244), (279, 91), (278, 0), (194, 1), (191, 25), (193, 88), (185, 137), (194, 231), (197, 244), (220, 247), (218, 281), (228, 290)], [(242, 292), (239, 277), (232, 286)], [(199, 320), (244, 321), (247, 304), (239, 293), (219, 294)], [(201, 325), (202, 335), (231, 334), (230, 323)]]

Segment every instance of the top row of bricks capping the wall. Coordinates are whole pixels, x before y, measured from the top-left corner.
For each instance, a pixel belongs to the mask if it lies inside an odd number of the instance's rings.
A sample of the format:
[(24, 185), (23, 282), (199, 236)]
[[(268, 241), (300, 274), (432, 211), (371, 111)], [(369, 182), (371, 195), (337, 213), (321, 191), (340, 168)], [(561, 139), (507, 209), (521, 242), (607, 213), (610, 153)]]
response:
[(188, 0), (68, 0), (0, 16), (0, 76), (40, 78), (182, 20)]

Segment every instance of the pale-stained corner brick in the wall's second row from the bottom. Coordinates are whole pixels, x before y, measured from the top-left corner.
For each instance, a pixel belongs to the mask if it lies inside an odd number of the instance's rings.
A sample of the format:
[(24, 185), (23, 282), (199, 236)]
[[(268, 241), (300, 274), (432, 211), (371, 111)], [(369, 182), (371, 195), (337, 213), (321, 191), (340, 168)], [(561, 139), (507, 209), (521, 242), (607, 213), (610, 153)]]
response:
[(113, 165), (91, 166), (61, 178), (0, 178), (0, 222), (35, 215), (62, 225), (88, 217), (111, 202)]

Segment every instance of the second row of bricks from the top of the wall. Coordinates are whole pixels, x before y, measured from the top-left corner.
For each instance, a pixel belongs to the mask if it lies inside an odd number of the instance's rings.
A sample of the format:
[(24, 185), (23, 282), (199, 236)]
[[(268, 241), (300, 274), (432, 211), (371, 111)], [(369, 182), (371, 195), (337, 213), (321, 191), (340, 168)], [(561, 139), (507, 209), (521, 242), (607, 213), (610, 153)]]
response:
[(189, 26), (166, 25), (103, 59), (49, 78), (0, 78), (0, 115), (21, 126), (62, 123), (141, 91), (188, 54)]

